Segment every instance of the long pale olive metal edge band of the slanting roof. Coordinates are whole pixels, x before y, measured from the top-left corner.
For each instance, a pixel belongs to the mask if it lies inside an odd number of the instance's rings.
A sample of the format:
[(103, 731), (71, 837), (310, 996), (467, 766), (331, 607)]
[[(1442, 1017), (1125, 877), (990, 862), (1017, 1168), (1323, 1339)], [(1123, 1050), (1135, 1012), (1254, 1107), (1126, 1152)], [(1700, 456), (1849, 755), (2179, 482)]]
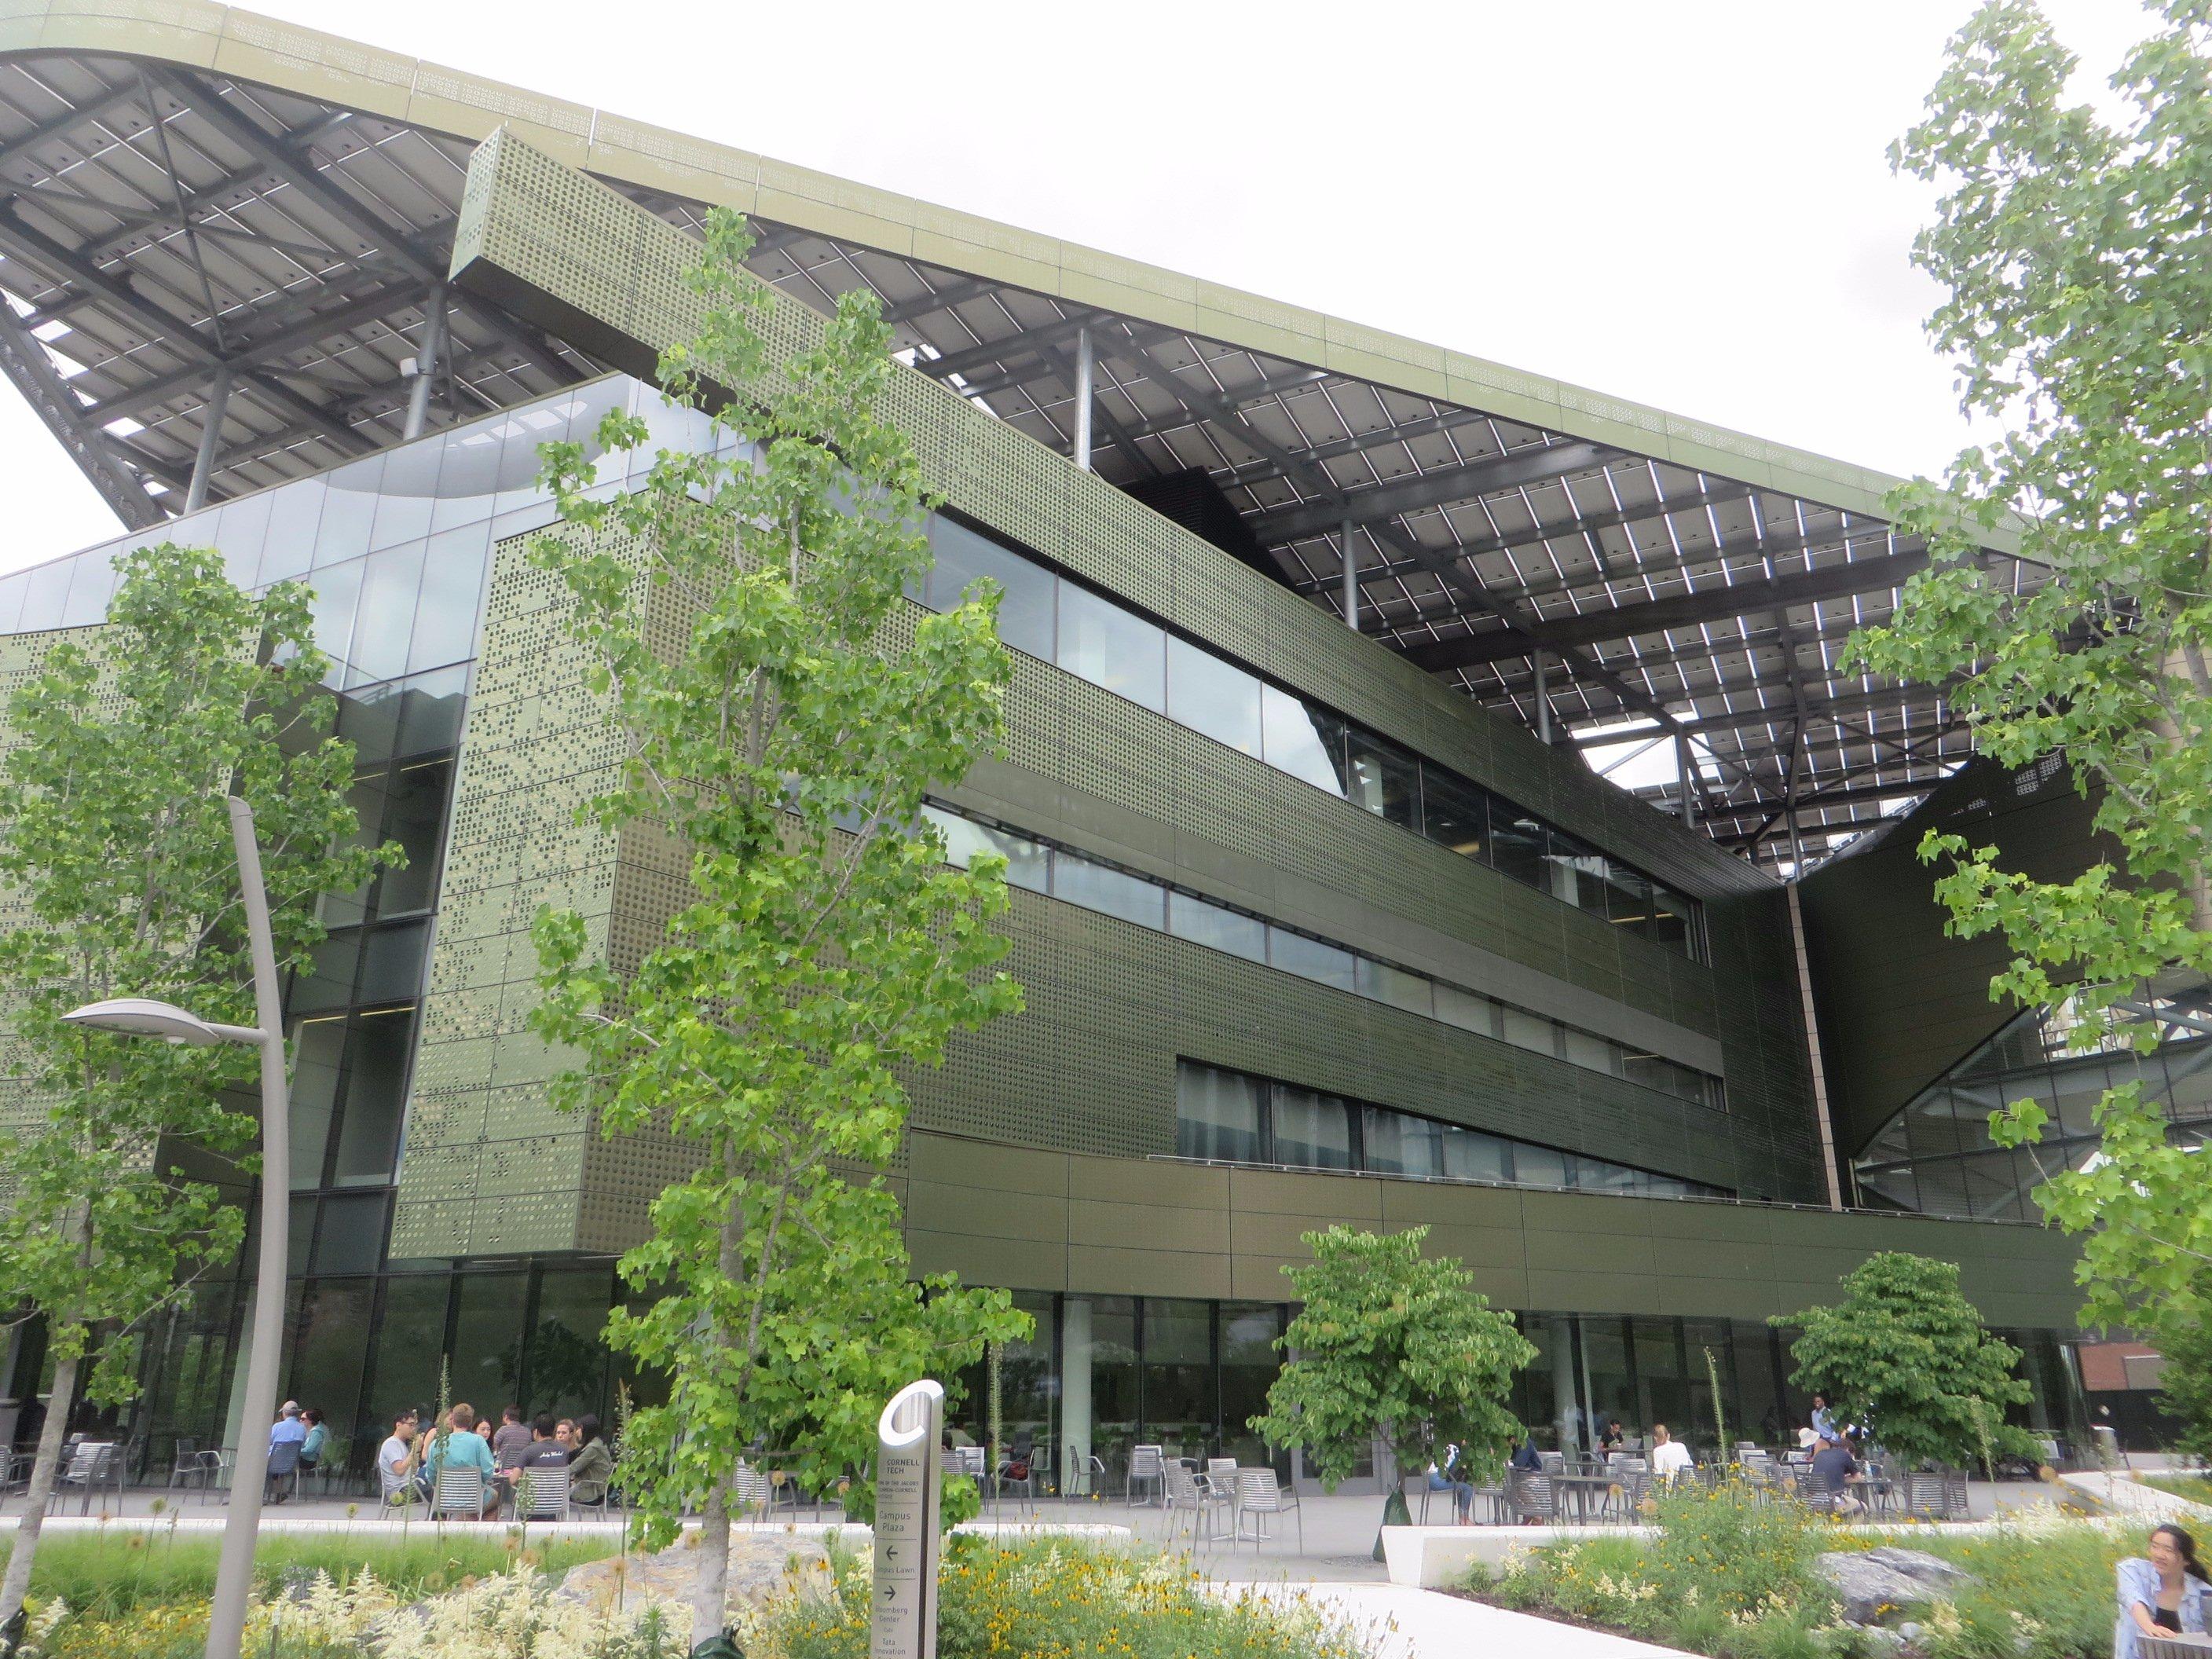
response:
[[(1281, 356), (1867, 518), (1905, 482), (1807, 449), (1146, 265), (980, 215), (544, 97), (427, 58), (206, 0), (0, 0), (0, 58), (148, 58), (321, 97), (462, 139), (500, 126), (571, 166), (754, 212), (1075, 305)], [(2017, 535), (1984, 542), (2017, 553)]]

